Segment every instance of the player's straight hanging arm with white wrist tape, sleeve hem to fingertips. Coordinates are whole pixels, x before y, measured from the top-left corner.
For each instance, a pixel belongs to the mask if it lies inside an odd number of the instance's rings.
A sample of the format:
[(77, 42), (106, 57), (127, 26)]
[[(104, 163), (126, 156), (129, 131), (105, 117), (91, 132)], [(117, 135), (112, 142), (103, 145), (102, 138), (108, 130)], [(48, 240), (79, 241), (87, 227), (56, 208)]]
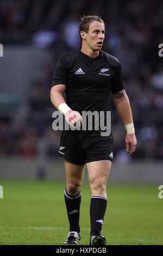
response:
[(131, 112), (130, 102), (125, 90), (120, 90), (113, 94), (114, 103), (120, 115), (120, 118), (126, 128), (126, 152), (131, 155), (134, 153), (136, 148), (136, 137), (133, 124), (133, 115)]

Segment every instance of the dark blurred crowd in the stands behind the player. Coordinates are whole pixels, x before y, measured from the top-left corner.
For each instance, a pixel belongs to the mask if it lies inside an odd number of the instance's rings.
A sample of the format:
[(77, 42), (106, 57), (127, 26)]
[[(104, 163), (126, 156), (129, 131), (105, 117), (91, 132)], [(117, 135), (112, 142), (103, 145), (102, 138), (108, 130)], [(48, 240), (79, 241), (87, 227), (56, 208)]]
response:
[(57, 156), (60, 132), (52, 130), (54, 107), (49, 92), (60, 55), (80, 47), (78, 23), (84, 14), (96, 14), (105, 21), (102, 50), (120, 59), (133, 111), (137, 150), (128, 157), (125, 131), (112, 104), (114, 158), (122, 162), (161, 160), (163, 57), (158, 56), (158, 46), (163, 43), (163, 3), (160, 0), (1, 1), (0, 42), (48, 47), (52, 56), (33, 77), (24, 125), (14, 130), (9, 120), (0, 120), (0, 156), (36, 157), (41, 138), (48, 142), (48, 155)]

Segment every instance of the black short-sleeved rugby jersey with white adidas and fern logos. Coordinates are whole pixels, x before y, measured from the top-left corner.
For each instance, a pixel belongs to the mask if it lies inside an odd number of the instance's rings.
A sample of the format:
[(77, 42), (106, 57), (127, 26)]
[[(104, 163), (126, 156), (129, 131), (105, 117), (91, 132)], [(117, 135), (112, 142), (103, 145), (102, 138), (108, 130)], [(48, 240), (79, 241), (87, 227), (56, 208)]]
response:
[(66, 103), (80, 114), (82, 111), (111, 111), (110, 92), (114, 94), (124, 89), (117, 58), (99, 51), (98, 57), (92, 59), (80, 49), (59, 58), (52, 86), (57, 84), (66, 86)]

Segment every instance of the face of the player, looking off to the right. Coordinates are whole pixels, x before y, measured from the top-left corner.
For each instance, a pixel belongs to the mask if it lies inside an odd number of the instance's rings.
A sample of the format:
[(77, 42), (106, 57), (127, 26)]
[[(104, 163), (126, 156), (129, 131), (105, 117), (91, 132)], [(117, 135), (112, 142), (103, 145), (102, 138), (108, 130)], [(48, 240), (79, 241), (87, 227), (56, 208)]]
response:
[(82, 34), (83, 40), (91, 50), (101, 50), (105, 38), (105, 25), (103, 22), (93, 21), (89, 27), (89, 32), (82, 32)]

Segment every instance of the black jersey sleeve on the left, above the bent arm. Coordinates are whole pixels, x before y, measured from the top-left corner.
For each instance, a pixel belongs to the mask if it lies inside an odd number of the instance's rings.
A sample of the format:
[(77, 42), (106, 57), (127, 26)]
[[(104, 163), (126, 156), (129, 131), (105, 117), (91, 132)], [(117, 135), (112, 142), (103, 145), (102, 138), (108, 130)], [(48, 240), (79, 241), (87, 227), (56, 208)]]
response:
[(57, 66), (54, 71), (54, 76), (52, 79), (52, 87), (57, 86), (57, 84), (64, 84), (66, 86), (68, 79), (68, 69), (62, 58), (59, 58)]

